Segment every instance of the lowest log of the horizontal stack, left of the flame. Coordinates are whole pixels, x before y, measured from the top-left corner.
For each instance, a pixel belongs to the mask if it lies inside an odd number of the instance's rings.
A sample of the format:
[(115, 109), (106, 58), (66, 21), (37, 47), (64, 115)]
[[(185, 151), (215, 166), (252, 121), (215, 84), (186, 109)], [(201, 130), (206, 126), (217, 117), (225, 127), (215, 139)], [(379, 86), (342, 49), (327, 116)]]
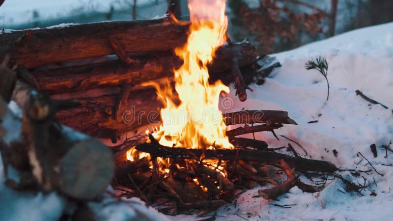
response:
[(61, 123), (76, 130), (100, 138), (113, 138), (117, 135), (143, 125), (159, 126), (160, 108), (162, 104), (157, 100), (154, 89), (147, 89), (131, 93), (120, 113), (123, 120), (118, 122), (113, 119), (117, 96), (107, 95), (96, 98), (79, 99), (79, 108), (59, 111), (56, 119)]

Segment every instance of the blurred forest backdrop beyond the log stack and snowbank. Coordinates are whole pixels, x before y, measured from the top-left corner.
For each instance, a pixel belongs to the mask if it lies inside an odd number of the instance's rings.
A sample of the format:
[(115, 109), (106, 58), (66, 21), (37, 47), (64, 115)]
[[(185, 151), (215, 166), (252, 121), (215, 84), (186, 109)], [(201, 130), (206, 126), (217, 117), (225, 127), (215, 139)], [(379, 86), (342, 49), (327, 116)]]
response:
[[(179, 19), (188, 20), (187, 0), (5, 0), (0, 24), (26, 29), (143, 20), (165, 15), (169, 5)], [(248, 39), (265, 54), (392, 22), (392, 12), (393, 0), (227, 0), (231, 40)]]

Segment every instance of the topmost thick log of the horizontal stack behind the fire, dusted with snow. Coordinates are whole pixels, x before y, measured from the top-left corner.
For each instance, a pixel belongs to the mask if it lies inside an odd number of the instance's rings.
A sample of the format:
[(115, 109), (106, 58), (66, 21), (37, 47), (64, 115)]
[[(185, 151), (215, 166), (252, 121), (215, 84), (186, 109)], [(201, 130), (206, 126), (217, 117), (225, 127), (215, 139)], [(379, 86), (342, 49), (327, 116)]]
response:
[[(188, 22), (162, 18), (14, 31), (0, 35), (0, 55), (9, 54), (15, 64), (32, 69), (71, 59), (113, 55), (111, 37), (125, 52), (166, 51), (187, 41), (188, 28)], [(29, 37), (23, 38), (25, 33)]]

